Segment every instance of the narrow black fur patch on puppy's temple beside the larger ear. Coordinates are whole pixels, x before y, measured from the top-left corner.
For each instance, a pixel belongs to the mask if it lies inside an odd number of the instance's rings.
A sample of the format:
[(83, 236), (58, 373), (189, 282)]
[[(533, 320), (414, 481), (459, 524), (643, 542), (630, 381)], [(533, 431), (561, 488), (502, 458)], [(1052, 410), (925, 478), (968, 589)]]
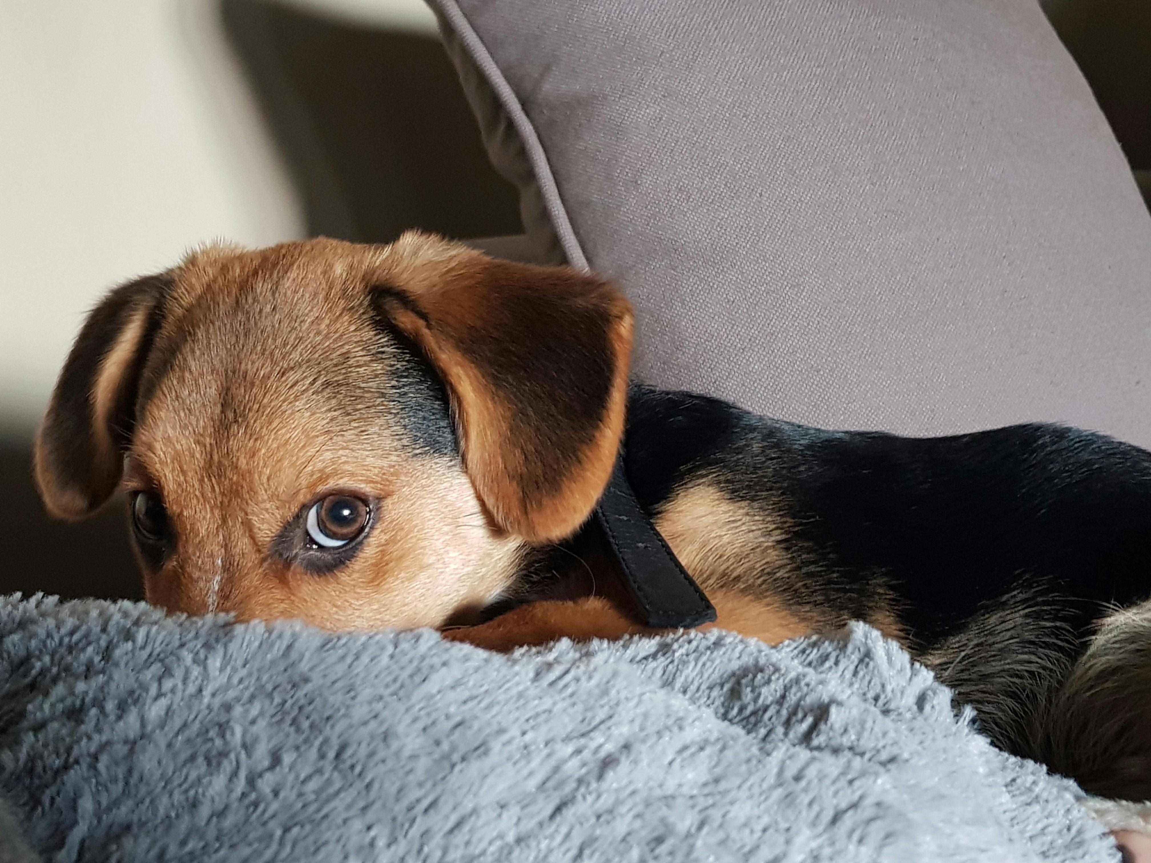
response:
[(424, 312), (389, 285), (373, 287), (371, 297), (376, 329), (398, 349), (387, 354), (387, 385), (401, 426), (420, 451), (458, 457), (459, 442), (451, 421), (448, 390), (419, 346), (391, 322), (387, 304), (395, 300), (426, 320)]

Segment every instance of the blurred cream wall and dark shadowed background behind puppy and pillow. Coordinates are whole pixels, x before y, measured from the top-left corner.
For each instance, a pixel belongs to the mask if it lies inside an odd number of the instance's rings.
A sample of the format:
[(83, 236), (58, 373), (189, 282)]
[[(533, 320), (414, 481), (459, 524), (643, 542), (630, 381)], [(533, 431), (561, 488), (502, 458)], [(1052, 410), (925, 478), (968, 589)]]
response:
[[(1151, 196), (1151, 1), (1044, 8)], [(109, 287), (216, 238), (519, 230), (421, 0), (0, 0), (0, 593), (139, 596), (122, 502), (53, 524), (29, 472)]]

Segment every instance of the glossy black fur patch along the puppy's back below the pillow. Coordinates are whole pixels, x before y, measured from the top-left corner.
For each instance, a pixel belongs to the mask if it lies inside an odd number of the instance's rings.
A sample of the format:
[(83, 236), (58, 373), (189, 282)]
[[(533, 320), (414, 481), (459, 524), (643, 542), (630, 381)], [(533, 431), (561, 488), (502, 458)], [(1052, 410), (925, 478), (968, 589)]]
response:
[(1077, 636), (1108, 604), (1151, 594), (1151, 453), (1023, 425), (951, 437), (825, 432), (718, 399), (633, 387), (625, 438), (640, 503), (695, 478), (793, 525), (815, 593), (849, 617), (894, 594), (930, 649), (1020, 591)]

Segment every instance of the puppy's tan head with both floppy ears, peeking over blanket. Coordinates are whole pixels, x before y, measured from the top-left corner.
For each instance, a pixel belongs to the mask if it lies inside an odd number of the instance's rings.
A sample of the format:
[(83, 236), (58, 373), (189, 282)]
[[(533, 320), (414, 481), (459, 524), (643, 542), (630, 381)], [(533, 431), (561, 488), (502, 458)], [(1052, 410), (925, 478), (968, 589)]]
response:
[(574, 533), (623, 429), (631, 311), (435, 237), (212, 247), (89, 316), (37, 440), (48, 510), (122, 484), (150, 602), (440, 626)]

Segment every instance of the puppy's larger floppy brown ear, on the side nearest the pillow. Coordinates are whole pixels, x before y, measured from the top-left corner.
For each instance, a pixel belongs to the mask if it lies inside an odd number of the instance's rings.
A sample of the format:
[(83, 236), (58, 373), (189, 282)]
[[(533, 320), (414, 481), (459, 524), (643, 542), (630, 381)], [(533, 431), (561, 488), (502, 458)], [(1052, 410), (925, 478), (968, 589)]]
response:
[(528, 542), (573, 534), (623, 435), (631, 304), (597, 276), (480, 254), (402, 281), (376, 308), (447, 385), (480, 501)]

